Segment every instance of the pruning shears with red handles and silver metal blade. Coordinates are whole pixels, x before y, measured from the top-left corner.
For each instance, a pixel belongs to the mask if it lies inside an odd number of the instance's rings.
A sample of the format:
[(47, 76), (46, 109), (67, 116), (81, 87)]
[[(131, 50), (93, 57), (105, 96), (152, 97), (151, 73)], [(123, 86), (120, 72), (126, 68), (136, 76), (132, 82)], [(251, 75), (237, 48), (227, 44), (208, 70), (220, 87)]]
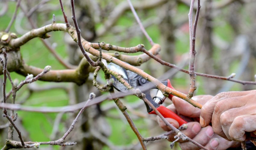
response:
[[(149, 81), (147, 81), (142, 76), (130, 70), (126, 70), (123, 67), (118, 66), (117, 64), (109, 63), (108, 68), (121, 74), (123, 76), (123, 79), (125, 79), (126, 82), (128, 82), (134, 88), (137, 88), (139, 86), (143, 87), (143, 86), (149, 85), (147, 84)], [(113, 84), (114, 88), (122, 92), (128, 91), (128, 89), (122, 83), (120, 83), (114, 76), (112, 76), (111, 78), (114, 79), (114, 84)], [(162, 81), (162, 83), (168, 86), (169, 88), (174, 89), (169, 79), (167, 79), (166, 81)], [(180, 126), (187, 123), (185, 120), (180, 118), (180, 116), (178, 116), (176, 113), (174, 113), (173, 111), (161, 105), (163, 104), (166, 97), (162, 94), (162, 92), (158, 88), (156, 88), (155, 85), (148, 88), (148, 90), (143, 91), (143, 93), (145, 94), (145, 98), (147, 98), (148, 101), (150, 101), (155, 106), (155, 108), (164, 116), (164, 118), (175, 119), (177, 122), (179, 122)], [(170, 98), (170, 100), (172, 99), (172, 97), (173, 95), (169, 94), (168, 98)], [(150, 106), (148, 106), (148, 104), (145, 103), (145, 105), (147, 107), (147, 111), (149, 114), (156, 115), (155, 111)]]

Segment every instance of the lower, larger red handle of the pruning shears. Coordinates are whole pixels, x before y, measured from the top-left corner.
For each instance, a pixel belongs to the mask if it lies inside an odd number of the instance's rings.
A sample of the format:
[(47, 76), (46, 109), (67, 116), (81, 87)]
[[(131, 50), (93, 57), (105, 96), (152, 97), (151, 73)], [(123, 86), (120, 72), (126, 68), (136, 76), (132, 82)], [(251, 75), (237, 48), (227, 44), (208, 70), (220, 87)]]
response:
[[(168, 108), (166, 108), (164, 106), (157, 107), (157, 110), (159, 111), (159, 113), (161, 113), (164, 116), (164, 118), (175, 119), (177, 122), (179, 122), (180, 126), (187, 123), (185, 120), (180, 118), (180, 116), (178, 116), (176, 113), (173, 113), (173, 111), (169, 110)], [(156, 115), (155, 111), (152, 111), (149, 114), (155, 114)]]

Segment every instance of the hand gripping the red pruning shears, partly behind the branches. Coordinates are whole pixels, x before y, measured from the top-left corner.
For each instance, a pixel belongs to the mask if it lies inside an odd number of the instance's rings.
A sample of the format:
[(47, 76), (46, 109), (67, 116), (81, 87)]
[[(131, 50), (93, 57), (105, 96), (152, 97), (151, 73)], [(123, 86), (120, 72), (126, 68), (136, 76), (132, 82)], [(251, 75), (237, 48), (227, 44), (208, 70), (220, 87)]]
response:
[[(201, 103), (205, 104), (208, 100), (213, 98), (211, 95), (199, 95), (195, 96), (192, 99)], [(224, 138), (214, 134), (214, 131), (211, 126), (205, 126), (201, 128), (199, 122), (195, 122), (193, 118), (198, 118), (200, 116), (201, 110), (192, 106), (191, 104), (187, 103), (186, 101), (173, 97), (172, 99), (173, 104), (168, 106), (167, 108), (172, 110), (173, 112), (180, 115), (183, 119), (188, 122), (188, 128), (186, 130), (182, 130), (183, 134), (190, 137), (192, 140), (200, 143), (202, 146), (206, 147), (207, 149), (227, 149), (229, 147), (237, 147), (240, 145), (240, 142), (236, 141), (228, 141)], [(174, 127), (179, 128), (179, 123), (171, 118), (166, 118), (168, 122), (170, 122)], [(171, 129), (164, 124), (164, 122), (157, 117), (158, 124), (164, 131), (170, 131)], [(169, 141), (174, 141), (174, 136), (176, 134), (169, 135)], [(193, 143), (189, 141), (182, 141), (179, 140), (178, 142), (181, 149), (200, 149)]]

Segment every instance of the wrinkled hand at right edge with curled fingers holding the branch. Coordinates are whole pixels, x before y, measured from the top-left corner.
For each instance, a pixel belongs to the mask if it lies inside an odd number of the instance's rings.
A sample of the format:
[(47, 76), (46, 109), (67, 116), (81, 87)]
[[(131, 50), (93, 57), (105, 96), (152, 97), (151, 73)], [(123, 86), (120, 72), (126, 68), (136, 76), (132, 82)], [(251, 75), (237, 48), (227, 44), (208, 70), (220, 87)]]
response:
[(211, 98), (201, 109), (200, 125), (210, 122), (221, 137), (244, 141), (245, 132), (256, 131), (256, 90), (222, 92)]

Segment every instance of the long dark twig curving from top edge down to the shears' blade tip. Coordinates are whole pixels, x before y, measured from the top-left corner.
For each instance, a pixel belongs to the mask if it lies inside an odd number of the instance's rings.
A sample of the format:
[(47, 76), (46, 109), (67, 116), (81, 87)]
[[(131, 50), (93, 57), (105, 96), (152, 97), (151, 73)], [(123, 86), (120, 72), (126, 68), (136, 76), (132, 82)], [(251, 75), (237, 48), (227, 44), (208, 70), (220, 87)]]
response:
[(85, 56), (86, 60), (89, 62), (89, 64), (93, 67), (98, 66), (98, 63), (94, 62), (87, 54), (86, 51), (83, 48), (82, 42), (81, 42), (81, 30), (79, 29), (77, 20), (76, 20), (76, 14), (75, 14), (75, 5), (74, 0), (70, 0), (71, 3), (71, 10), (72, 10), (72, 19), (76, 28), (76, 34), (77, 34), (77, 45), (80, 47), (80, 50), (82, 51), (83, 55)]

